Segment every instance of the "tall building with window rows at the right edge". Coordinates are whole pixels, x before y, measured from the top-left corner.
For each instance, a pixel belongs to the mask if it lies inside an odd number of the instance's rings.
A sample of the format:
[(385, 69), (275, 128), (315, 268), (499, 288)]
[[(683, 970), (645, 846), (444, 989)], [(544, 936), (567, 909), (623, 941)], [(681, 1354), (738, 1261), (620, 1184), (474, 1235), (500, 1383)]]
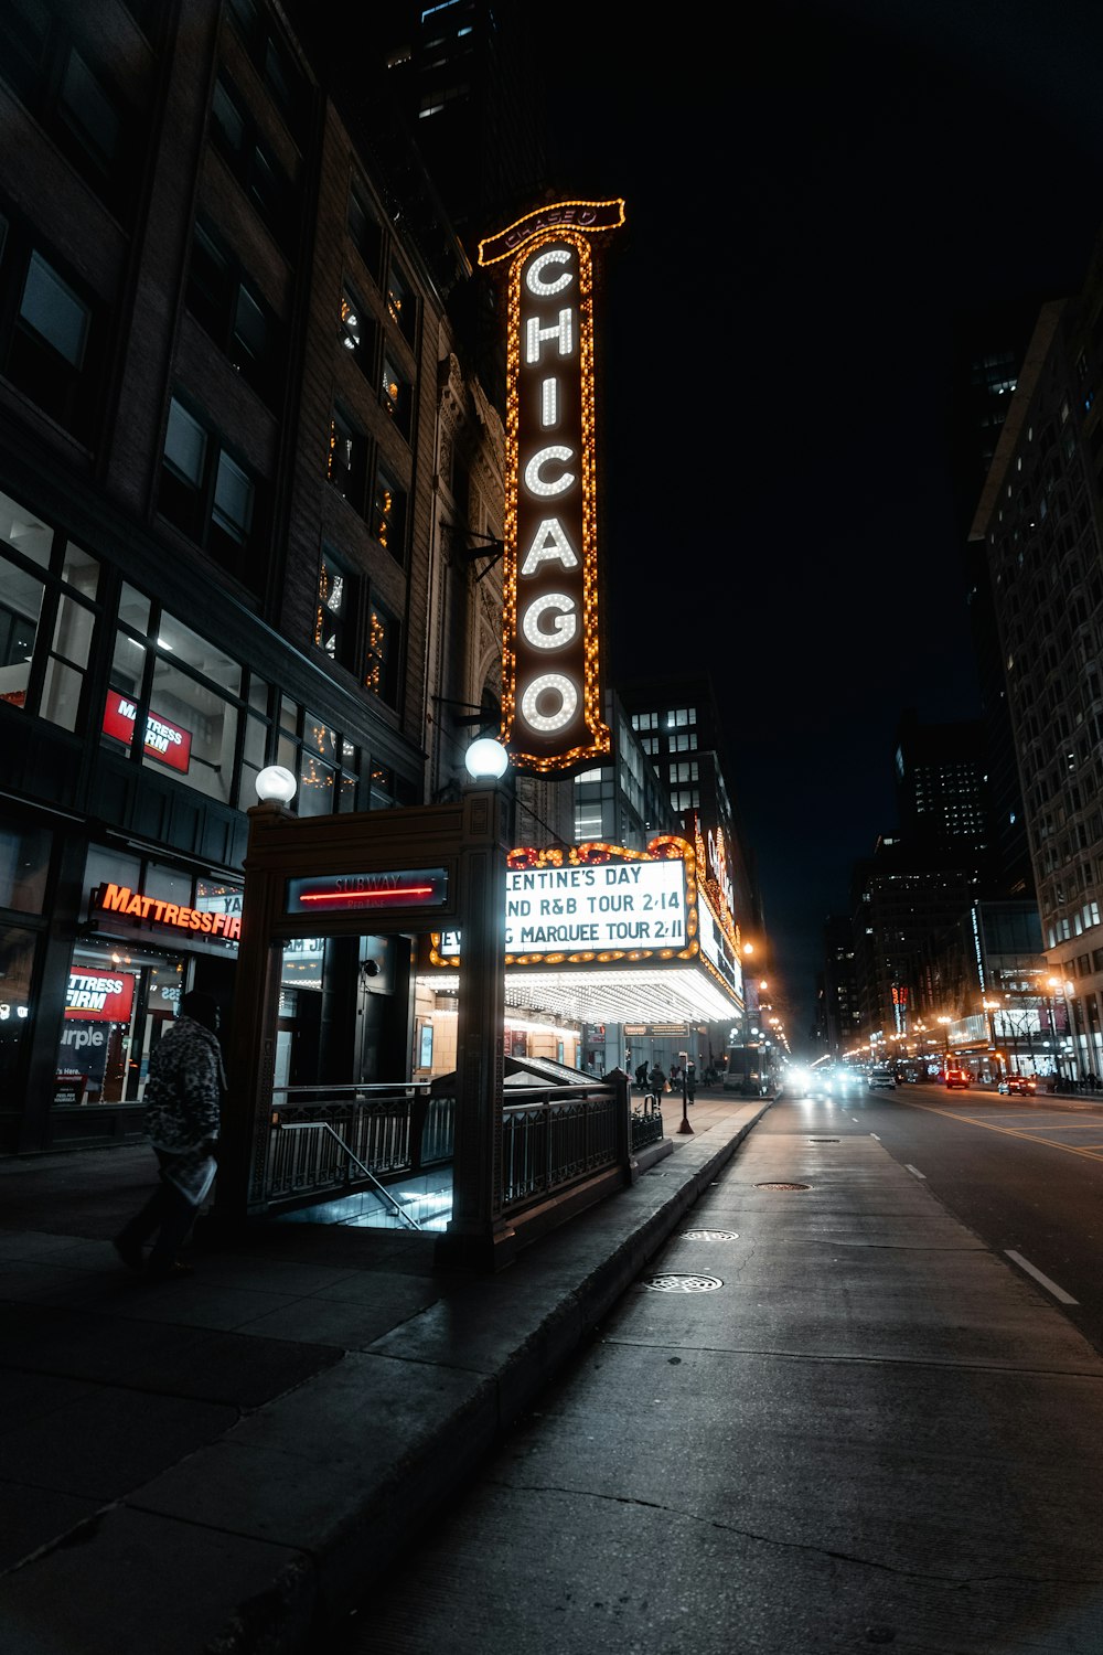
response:
[[(1080, 1072), (1103, 1036), (1103, 266), (1047, 305), (972, 538), (984, 544), (1048, 967)], [(1050, 990), (1047, 988), (1047, 993)]]

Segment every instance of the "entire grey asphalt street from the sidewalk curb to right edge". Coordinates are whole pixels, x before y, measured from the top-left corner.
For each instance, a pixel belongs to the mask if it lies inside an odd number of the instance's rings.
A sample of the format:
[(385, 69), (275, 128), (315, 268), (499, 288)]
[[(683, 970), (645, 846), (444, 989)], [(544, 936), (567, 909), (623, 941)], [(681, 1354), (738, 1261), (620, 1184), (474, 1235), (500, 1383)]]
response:
[(951, 1213), (1062, 1266), (1103, 1130), (1022, 1120), (776, 1104), (339, 1655), (1100, 1655), (1103, 1367)]

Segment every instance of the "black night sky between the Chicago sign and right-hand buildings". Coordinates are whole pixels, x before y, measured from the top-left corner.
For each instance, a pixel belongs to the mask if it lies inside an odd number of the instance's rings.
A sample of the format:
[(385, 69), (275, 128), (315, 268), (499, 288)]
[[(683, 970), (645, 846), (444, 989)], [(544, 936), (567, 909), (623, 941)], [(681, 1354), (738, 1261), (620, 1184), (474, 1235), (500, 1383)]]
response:
[(1103, 5), (771, 0), (652, 35), (617, 7), (597, 40), (594, 12), (566, 8), (552, 121), (564, 192), (628, 212), (599, 318), (612, 680), (711, 670), (799, 1049), (824, 919), (895, 826), (900, 713), (979, 710), (953, 341), (1083, 281)]

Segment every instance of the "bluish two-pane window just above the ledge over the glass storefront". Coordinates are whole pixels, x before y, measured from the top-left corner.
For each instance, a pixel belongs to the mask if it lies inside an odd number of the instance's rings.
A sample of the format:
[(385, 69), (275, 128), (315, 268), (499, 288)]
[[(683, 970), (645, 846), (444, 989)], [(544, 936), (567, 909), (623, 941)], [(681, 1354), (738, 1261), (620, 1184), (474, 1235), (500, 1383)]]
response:
[(227, 568), (245, 573), (256, 530), (256, 483), (222, 439), (175, 397), (169, 405), (157, 508)]

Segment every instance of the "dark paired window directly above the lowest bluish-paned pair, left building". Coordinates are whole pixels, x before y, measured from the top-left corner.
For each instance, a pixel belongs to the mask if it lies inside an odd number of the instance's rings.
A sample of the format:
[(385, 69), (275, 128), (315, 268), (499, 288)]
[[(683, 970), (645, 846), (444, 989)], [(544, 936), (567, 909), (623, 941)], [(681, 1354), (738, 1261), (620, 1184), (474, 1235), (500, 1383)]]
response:
[(236, 258), (202, 223), (195, 225), (192, 238), (187, 306), (241, 377), (265, 401), (278, 402), (279, 323)]

